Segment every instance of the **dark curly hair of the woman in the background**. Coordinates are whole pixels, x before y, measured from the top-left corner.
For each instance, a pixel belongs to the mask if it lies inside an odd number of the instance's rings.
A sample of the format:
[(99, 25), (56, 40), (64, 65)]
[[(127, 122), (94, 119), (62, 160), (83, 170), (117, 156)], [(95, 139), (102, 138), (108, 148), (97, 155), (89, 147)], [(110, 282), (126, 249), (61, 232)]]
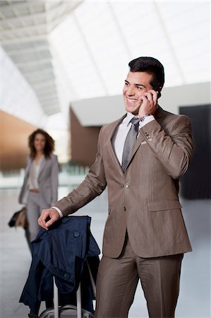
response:
[(45, 146), (44, 146), (44, 156), (45, 158), (49, 158), (52, 152), (54, 151), (54, 139), (43, 129), (37, 129), (32, 134), (30, 134), (28, 138), (28, 146), (30, 148), (30, 157), (35, 158), (36, 149), (34, 146), (35, 136), (37, 134), (42, 134), (45, 138)]

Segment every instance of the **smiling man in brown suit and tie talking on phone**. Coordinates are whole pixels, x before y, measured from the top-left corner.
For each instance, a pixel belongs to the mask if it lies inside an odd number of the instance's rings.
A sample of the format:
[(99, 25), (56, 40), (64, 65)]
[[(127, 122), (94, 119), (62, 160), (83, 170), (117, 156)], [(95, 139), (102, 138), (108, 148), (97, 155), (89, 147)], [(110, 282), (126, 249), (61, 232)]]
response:
[(128, 317), (139, 278), (149, 316), (174, 317), (183, 253), (191, 251), (179, 177), (188, 169), (193, 146), (190, 119), (157, 105), (163, 85), (164, 68), (157, 59), (129, 63), (123, 87), (126, 114), (102, 126), (96, 160), (85, 180), (42, 211), (38, 221), (48, 229), (107, 187), (96, 318)]

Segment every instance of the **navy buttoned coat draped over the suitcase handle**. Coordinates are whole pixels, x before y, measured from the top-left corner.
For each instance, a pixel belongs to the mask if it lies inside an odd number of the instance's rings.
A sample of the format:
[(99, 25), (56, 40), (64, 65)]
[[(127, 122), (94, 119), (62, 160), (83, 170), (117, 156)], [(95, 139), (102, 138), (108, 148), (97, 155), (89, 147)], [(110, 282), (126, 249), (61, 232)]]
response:
[[(96, 279), (100, 249), (90, 231), (90, 222), (90, 216), (61, 218), (48, 231), (41, 229), (31, 242), (32, 263), (20, 302), (32, 312), (37, 311), (41, 301), (52, 298), (53, 276), (59, 292), (76, 292), (88, 260)], [(87, 278), (85, 282), (88, 284)], [(90, 289), (91, 285), (86, 287)]]

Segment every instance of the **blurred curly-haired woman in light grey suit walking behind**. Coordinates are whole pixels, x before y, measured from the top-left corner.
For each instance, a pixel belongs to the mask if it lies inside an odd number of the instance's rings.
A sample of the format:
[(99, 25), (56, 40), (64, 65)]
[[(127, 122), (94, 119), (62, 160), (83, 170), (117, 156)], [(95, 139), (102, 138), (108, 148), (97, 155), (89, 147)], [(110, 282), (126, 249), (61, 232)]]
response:
[(25, 169), (19, 203), (26, 205), (28, 218), (28, 241), (37, 236), (37, 223), (42, 209), (49, 208), (57, 201), (59, 165), (53, 154), (54, 139), (46, 131), (37, 129), (28, 139), (30, 156)]

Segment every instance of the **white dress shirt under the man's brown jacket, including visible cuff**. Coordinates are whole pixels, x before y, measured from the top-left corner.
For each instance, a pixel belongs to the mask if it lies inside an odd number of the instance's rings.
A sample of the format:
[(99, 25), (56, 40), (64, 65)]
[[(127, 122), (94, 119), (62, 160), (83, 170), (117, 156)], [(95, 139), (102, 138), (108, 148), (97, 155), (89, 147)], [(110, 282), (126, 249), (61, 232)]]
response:
[[(128, 134), (128, 131), (131, 128), (131, 119), (134, 117), (134, 115), (131, 112), (127, 112), (126, 117), (123, 119), (123, 121), (119, 124), (119, 126), (116, 128), (116, 131), (114, 133), (114, 136), (112, 138), (112, 145), (114, 148), (114, 153), (116, 153), (116, 158), (119, 160), (119, 163), (121, 165), (121, 158), (123, 153), (123, 145), (126, 140), (126, 136)], [(155, 120), (155, 117), (153, 115), (147, 116), (143, 122), (139, 123), (139, 129), (148, 122), (152, 122), (152, 120)], [(139, 134), (138, 134), (139, 135)], [(138, 136), (137, 136), (138, 138)], [(59, 216), (62, 218), (63, 213), (59, 208), (56, 206), (52, 206), (52, 208), (55, 208), (56, 211), (59, 212)]]

